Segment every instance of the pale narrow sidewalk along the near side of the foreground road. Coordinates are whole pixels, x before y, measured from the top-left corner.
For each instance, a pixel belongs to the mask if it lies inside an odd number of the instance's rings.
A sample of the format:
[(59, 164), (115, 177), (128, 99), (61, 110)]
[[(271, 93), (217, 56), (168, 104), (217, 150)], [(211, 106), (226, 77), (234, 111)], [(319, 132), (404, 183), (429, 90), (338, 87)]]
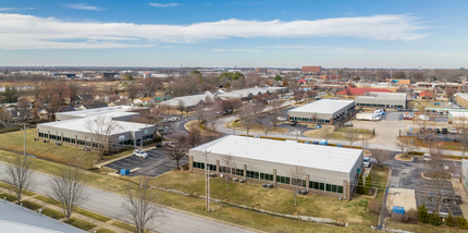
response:
[[(3, 187), (0, 187), (0, 192), (1, 193), (7, 193), (7, 194), (9, 193), (9, 191), (5, 189), (5, 188), (3, 188)], [(46, 209), (47, 208), (47, 209), (51, 209), (51, 210), (56, 210), (56, 211), (62, 212), (62, 209), (60, 207), (57, 207), (57, 206), (48, 204), (48, 203), (44, 203), (41, 200), (38, 200), (38, 199), (35, 198), (37, 196), (40, 196), (40, 195), (39, 194), (35, 194), (34, 196), (24, 196), (22, 198), (22, 200), (28, 200), (30, 203), (38, 204), (38, 205), (42, 206), (40, 209)], [(38, 210), (35, 210), (35, 211), (38, 211)], [(90, 211), (90, 210), (87, 210), (87, 211)], [(90, 212), (93, 212), (93, 211), (90, 211)], [(95, 231), (98, 231), (99, 229), (107, 229), (107, 230), (111, 230), (111, 231), (116, 232), (116, 233), (131, 233), (130, 231), (125, 231), (123, 229), (120, 229), (118, 226), (112, 225), (111, 223), (115, 221), (114, 219), (111, 219), (111, 220), (109, 220), (107, 222), (101, 222), (99, 220), (96, 220), (96, 219), (93, 219), (93, 218), (89, 218), (89, 217), (86, 217), (86, 216), (83, 216), (83, 214), (79, 214), (79, 213), (76, 213), (76, 212), (72, 213), (72, 218), (76, 218), (76, 219), (79, 219), (79, 220), (83, 220), (83, 221), (86, 221), (86, 222), (90, 222), (90, 223), (93, 223), (93, 224), (96, 225), (94, 229), (90, 229), (88, 232), (95, 232)], [(65, 220), (63, 220), (63, 221), (65, 221)]]

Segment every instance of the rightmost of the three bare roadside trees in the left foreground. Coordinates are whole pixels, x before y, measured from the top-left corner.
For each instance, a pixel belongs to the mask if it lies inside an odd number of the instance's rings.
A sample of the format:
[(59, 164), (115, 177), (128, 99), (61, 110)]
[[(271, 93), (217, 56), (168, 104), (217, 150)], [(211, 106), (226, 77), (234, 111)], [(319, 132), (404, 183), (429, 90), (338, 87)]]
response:
[(128, 183), (125, 187), (124, 203), (126, 209), (136, 226), (136, 233), (147, 233), (149, 228), (156, 228), (155, 220), (162, 224), (167, 220), (163, 209), (153, 205), (157, 200), (156, 193), (151, 191), (151, 179), (139, 176), (138, 184)]

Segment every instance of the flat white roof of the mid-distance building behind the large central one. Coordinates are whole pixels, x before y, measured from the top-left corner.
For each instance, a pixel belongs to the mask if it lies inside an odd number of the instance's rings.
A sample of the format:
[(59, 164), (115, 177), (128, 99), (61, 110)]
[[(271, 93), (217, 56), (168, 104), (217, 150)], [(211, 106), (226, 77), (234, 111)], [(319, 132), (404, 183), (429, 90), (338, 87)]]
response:
[(334, 99), (321, 99), (287, 112), (320, 112), (333, 114), (340, 109), (354, 103), (354, 100), (334, 100)]

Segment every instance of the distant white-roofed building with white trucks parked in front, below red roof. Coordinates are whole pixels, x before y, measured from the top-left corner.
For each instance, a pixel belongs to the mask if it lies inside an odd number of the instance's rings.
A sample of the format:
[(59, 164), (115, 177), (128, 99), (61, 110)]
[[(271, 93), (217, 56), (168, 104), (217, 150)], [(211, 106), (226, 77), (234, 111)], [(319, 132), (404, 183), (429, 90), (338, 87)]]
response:
[(367, 93), (356, 97), (356, 106), (380, 108), (406, 108), (405, 93)]

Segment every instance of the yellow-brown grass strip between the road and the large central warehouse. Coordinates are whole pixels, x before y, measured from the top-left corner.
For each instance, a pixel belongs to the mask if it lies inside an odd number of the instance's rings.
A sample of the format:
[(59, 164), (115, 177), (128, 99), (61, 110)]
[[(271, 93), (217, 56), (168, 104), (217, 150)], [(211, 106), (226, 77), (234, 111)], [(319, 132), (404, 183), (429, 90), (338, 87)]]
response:
[[(293, 214), (299, 214), (337, 219), (343, 218), (345, 222), (364, 223), (367, 225), (377, 223), (377, 218), (366, 211), (367, 198), (354, 198), (352, 201), (341, 201), (337, 198), (308, 195), (297, 197), (297, 207), (294, 207), (294, 197), (290, 191), (282, 188), (261, 188), (258, 184), (231, 183), (230, 191), (225, 192), (226, 185), (223, 179), (210, 181), (211, 196), (218, 199), (229, 198), (229, 201), (261, 209)], [(153, 180), (153, 185), (170, 186), (171, 188), (187, 193), (205, 193), (205, 181), (202, 175), (187, 172), (171, 171)]]

